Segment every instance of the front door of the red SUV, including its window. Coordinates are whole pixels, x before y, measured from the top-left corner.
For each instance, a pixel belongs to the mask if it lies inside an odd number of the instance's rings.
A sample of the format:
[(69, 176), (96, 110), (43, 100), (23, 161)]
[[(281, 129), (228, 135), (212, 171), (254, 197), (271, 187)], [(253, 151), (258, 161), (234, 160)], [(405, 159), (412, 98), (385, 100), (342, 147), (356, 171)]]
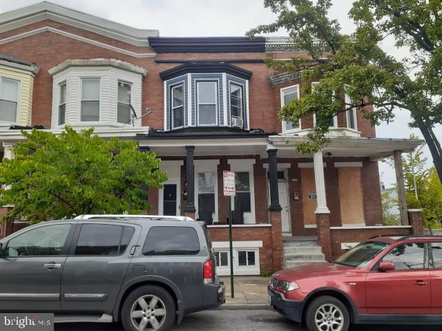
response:
[(375, 267), (365, 283), (369, 314), (430, 314), (430, 270), (425, 243), (405, 243), (392, 248), (381, 261), (391, 261), (395, 270)]

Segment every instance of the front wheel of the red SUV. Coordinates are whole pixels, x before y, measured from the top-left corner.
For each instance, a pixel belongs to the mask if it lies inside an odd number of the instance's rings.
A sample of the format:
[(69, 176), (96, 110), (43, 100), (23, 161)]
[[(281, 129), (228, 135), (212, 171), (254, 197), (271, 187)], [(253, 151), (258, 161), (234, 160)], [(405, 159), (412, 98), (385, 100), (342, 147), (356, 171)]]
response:
[(350, 317), (342, 301), (323, 296), (311, 301), (305, 314), (305, 323), (309, 331), (347, 331)]

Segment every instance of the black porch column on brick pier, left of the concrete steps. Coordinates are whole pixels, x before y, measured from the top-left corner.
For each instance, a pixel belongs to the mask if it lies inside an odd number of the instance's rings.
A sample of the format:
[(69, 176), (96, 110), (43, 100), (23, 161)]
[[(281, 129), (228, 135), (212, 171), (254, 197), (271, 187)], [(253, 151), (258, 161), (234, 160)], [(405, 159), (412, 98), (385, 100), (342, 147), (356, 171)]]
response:
[(269, 186), (270, 186), (270, 205), (269, 218), (271, 223), (271, 259), (273, 272), (281, 270), (282, 265), (282, 220), (281, 205), (279, 204), (278, 194), (278, 163), (276, 161), (276, 152), (278, 150), (267, 150), (269, 154)]

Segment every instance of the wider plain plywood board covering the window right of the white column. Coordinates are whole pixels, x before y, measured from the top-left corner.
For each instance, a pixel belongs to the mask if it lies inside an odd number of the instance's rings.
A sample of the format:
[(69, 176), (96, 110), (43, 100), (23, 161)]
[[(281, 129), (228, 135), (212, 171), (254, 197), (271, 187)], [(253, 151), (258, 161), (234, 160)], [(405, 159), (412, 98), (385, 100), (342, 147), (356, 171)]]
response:
[(338, 168), (338, 183), (341, 222), (365, 223), (361, 168)]

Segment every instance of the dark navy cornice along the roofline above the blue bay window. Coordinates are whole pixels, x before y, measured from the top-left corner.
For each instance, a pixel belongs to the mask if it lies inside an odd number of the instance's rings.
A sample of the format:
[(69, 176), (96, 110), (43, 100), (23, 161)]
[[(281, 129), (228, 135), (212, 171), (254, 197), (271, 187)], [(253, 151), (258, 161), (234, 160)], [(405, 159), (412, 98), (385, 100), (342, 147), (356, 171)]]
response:
[(159, 53), (263, 53), (265, 38), (255, 37), (149, 37)]

